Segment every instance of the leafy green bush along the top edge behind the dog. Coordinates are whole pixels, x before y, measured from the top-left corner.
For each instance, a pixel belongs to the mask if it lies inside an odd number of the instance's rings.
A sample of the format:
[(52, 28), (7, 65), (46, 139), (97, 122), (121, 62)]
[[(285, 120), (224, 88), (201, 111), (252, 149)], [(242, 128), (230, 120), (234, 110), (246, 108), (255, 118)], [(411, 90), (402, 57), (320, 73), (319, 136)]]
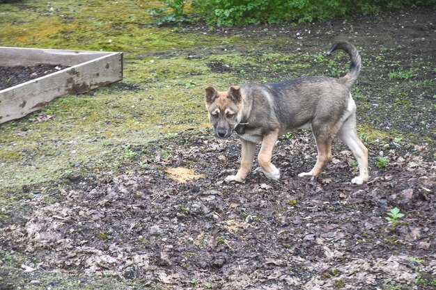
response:
[(436, 0), (193, 0), (192, 6), (206, 23), (237, 24), (310, 22), (352, 15), (378, 13), (387, 8), (436, 6)]

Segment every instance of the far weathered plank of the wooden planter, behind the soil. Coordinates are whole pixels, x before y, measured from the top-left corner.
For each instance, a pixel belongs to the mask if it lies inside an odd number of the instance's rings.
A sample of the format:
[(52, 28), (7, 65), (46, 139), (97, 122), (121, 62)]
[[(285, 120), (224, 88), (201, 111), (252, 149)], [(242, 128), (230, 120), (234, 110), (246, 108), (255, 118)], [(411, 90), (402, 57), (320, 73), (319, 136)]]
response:
[(107, 56), (107, 54), (109, 53), (102, 51), (0, 47), (0, 66), (33, 66), (41, 63), (72, 66), (92, 61), (100, 56)]

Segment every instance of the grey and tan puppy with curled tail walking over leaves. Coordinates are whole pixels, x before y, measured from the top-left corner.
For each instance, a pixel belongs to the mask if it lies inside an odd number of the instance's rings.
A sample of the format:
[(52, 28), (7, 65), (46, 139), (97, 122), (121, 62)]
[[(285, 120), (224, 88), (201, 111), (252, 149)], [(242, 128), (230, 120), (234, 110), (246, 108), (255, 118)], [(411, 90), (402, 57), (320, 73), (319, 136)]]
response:
[(208, 118), (215, 136), (228, 138), (233, 131), (242, 143), (240, 169), (225, 182), (242, 182), (253, 166), (256, 143), (262, 142), (258, 163), (266, 177), (279, 179), (280, 170), (271, 163), (272, 151), (279, 136), (293, 129), (312, 129), (318, 159), (309, 172), (298, 176), (318, 176), (332, 161), (332, 140), (338, 135), (357, 159), (359, 176), (353, 184), (368, 181), (368, 149), (356, 129), (356, 104), (351, 88), (361, 70), (356, 47), (347, 41), (334, 43), (327, 52), (346, 51), (351, 58), (350, 71), (341, 78), (302, 76), (280, 83), (245, 83), (219, 92), (205, 89)]

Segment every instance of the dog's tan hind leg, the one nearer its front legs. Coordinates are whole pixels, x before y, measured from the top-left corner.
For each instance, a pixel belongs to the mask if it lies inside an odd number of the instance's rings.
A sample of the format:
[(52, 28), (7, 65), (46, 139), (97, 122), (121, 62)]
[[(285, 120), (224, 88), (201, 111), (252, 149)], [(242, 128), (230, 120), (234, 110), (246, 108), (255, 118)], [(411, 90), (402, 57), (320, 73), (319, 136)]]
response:
[(318, 149), (318, 159), (315, 166), (309, 172), (302, 172), (298, 176), (303, 177), (306, 175), (318, 176), (321, 171), (332, 161), (332, 140), (333, 136), (330, 134), (318, 134), (318, 131), (313, 129), (313, 136), (316, 140), (316, 148)]

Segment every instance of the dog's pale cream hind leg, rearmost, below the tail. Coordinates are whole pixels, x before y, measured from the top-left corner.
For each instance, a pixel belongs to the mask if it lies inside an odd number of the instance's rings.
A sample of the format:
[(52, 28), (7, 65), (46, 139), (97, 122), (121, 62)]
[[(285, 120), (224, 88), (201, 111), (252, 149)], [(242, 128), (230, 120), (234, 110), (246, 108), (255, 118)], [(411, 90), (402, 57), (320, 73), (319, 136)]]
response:
[(338, 136), (350, 148), (352, 154), (355, 155), (359, 166), (359, 176), (353, 178), (351, 182), (353, 184), (364, 184), (369, 178), (368, 149), (366, 149), (365, 145), (361, 143), (359, 136), (357, 136), (355, 113), (342, 124)]

